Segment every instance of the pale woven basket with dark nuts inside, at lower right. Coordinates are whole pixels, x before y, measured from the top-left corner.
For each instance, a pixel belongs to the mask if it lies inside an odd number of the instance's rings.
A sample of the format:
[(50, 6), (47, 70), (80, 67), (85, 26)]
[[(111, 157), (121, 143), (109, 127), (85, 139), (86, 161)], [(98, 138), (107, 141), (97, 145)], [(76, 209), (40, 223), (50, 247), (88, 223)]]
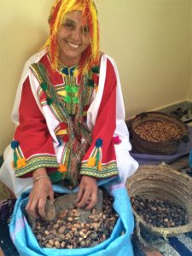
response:
[(170, 166), (140, 166), (126, 183), (140, 225), (164, 239), (192, 230), (192, 179)]

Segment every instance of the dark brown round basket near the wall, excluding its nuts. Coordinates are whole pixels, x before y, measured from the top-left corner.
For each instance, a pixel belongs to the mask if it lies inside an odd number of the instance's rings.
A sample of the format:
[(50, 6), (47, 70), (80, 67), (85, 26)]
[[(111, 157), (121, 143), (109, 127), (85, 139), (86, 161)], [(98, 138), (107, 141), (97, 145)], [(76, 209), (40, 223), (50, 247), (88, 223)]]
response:
[[(182, 131), (182, 135), (178, 139), (172, 139), (165, 143), (149, 142), (142, 137), (139, 137), (135, 132), (137, 125), (141, 125), (146, 121), (169, 121), (178, 126)], [(145, 154), (173, 154), (177, 151), (179, 143), (183, 140), (185, 143), (189, 142), (187, 126), (180, 120), (174, 118), (172, 115), (160, 112), (146, 112), (140, 113), (131, 122), (131, 133), (133, 144), (138, 152)]]

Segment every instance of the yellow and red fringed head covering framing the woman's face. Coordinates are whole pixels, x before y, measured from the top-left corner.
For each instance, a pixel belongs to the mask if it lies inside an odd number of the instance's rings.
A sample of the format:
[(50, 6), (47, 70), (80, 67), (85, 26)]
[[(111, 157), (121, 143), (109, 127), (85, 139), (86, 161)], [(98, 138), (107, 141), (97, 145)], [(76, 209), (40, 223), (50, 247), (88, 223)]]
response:
[(57, 34), (67, 13), (73, 10), (82, 11), (83, 20), (86, 19), (89, 26), (90, 45), (84, 50), (79, 62), (79, 72), (84, 74), (99, 61), (100, 56), (97, 10), (92, 0), (55, 0), (49, 15), (50, 34), (43, 49), (48, 48), (50, 65), (55, 70), (59, 63)]

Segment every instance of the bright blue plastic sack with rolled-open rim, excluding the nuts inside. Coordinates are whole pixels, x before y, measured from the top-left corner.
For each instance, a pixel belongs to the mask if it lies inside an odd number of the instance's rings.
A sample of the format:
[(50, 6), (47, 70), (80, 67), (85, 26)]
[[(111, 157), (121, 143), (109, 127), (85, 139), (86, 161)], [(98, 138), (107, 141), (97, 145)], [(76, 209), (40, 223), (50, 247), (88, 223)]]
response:
[[(89, 248), (55, 249), (40, 247), (24, 215), (29, 191), (20, 195), (9, 224), (11, 239), (20, 256), (132, 256), (131, 234), (134, 228), (134, 218), (125, 185), (122, 183), (114, 184), (109, 180), (109, 183), (102, 184), (102, 186), (113, 196), (113, 208), (119, 214), (119, 218), (108, 240), (102, 241), (96, 247)], [(69, 193), (68, 189), (61, 186), (54, 185), (53, 187), (57, 193)], [(122, 231), (124, 231), (124, 235), (121, 235)]]

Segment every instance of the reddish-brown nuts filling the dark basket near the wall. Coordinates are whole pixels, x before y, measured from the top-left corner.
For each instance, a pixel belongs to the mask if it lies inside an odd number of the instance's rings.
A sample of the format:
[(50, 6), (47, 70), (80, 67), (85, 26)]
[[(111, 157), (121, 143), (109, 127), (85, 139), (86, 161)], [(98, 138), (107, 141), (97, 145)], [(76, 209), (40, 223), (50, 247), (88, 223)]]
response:
[(180, 128), (169, 121), (145, 121), (135, 127), (137, 136), (151, 143), (166, 143), (182, 137)]

